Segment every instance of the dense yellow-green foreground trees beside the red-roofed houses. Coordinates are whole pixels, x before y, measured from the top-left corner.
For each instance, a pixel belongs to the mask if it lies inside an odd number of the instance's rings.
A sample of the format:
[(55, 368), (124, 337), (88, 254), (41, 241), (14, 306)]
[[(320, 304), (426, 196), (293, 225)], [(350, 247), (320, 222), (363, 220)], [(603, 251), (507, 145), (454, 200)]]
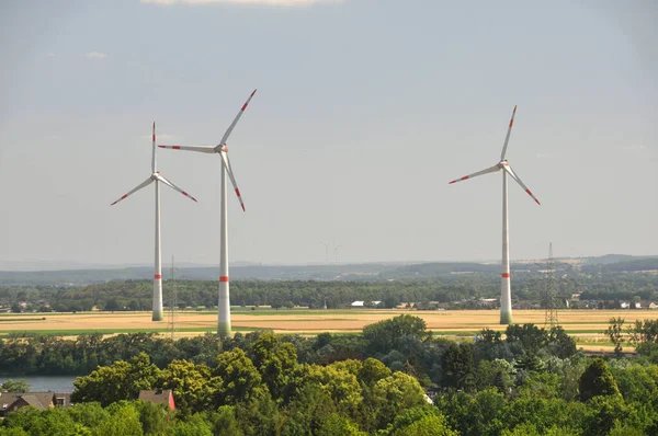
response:
[[(559, 329), (511, 325), (504, 340), (485, 330), (457, 344), (401, 315), (354, 336), (208, 335), (207, 354), (164, 365), (150, 355), (157, 346), (137, 352), (157, 337), (137, 337), (132, 356), (75, 382), (75, 406), (12, 412), (0, 435), (658, 432), (658, 366), (585, 357)], [(141, 389), (172, 389), (177, 412), (135, 401)]]

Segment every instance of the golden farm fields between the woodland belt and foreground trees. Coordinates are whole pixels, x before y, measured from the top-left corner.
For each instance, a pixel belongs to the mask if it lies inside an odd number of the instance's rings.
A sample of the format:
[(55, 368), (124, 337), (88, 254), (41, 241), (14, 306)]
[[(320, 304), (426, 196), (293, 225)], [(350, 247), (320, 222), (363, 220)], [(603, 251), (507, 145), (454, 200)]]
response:
[[(318, 334), (356, 333), (365, 325), (402, 313), (422, 318), (434, 334), (466, 340), (479, 330), (489, 328), (503, 331), (498, 323), (497, 310), (272, 310), (234, 309), (231, 322), (235, 332), (273, 330), (275, 333)], [(543, 310), (517, 310), (515, 323), (544, 325)], [(213, 332), (217, 323), (216, 312), (178, 312), (175, 337)], [(658, 319), (654, 310), (564, 310), (558, 313), (559, 324), (575, 336), (578, 346), (588, 351), (608, 351), (612, 345), (601, 333), (611, 318), (622, 317), (626, 324), (635, 320)], [(167, 333), (171, 329), (169, 317), (162, 322), (152, 322), (150, 312), (79, 312), (79, 313), (26, 313), (1, 314), (0, 336), (10, 333), (33, 332), (75, 336), (99, 332), (118, 334), (128, 332)]]

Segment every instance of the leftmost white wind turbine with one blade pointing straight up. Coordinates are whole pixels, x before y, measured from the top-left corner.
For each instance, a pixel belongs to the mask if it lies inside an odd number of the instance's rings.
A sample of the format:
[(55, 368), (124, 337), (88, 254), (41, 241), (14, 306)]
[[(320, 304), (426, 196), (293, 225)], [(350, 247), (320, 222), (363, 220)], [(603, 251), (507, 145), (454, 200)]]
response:
[(128, 195), (136, 193), (150, 185), (152, 182), (156, 183), (156, 261), (155, 261), (155, 273), (154, 273), (154, 321), (162, 321), (164, 319), (162, 314), (162, 253), (160, 252), (160, 182), (164, 185), (171, 187), (174, 191), (180, 192), (185, 197), (193, 199), (196, 202), (196, 198), (171, 183), (169, 180), (164, 179), (162, 174), (158, 172), (156, 169), (156, 123), (154, 122), (154, 134), (152, 134), (152, 156), (151, 156), (151, 175), (145, 180), (143, 183), (137, 185), (133, 191), (123, 195), (120, 199), (112, 203), (111, 206), (114, 206), (122, 199), (127, 198)]

